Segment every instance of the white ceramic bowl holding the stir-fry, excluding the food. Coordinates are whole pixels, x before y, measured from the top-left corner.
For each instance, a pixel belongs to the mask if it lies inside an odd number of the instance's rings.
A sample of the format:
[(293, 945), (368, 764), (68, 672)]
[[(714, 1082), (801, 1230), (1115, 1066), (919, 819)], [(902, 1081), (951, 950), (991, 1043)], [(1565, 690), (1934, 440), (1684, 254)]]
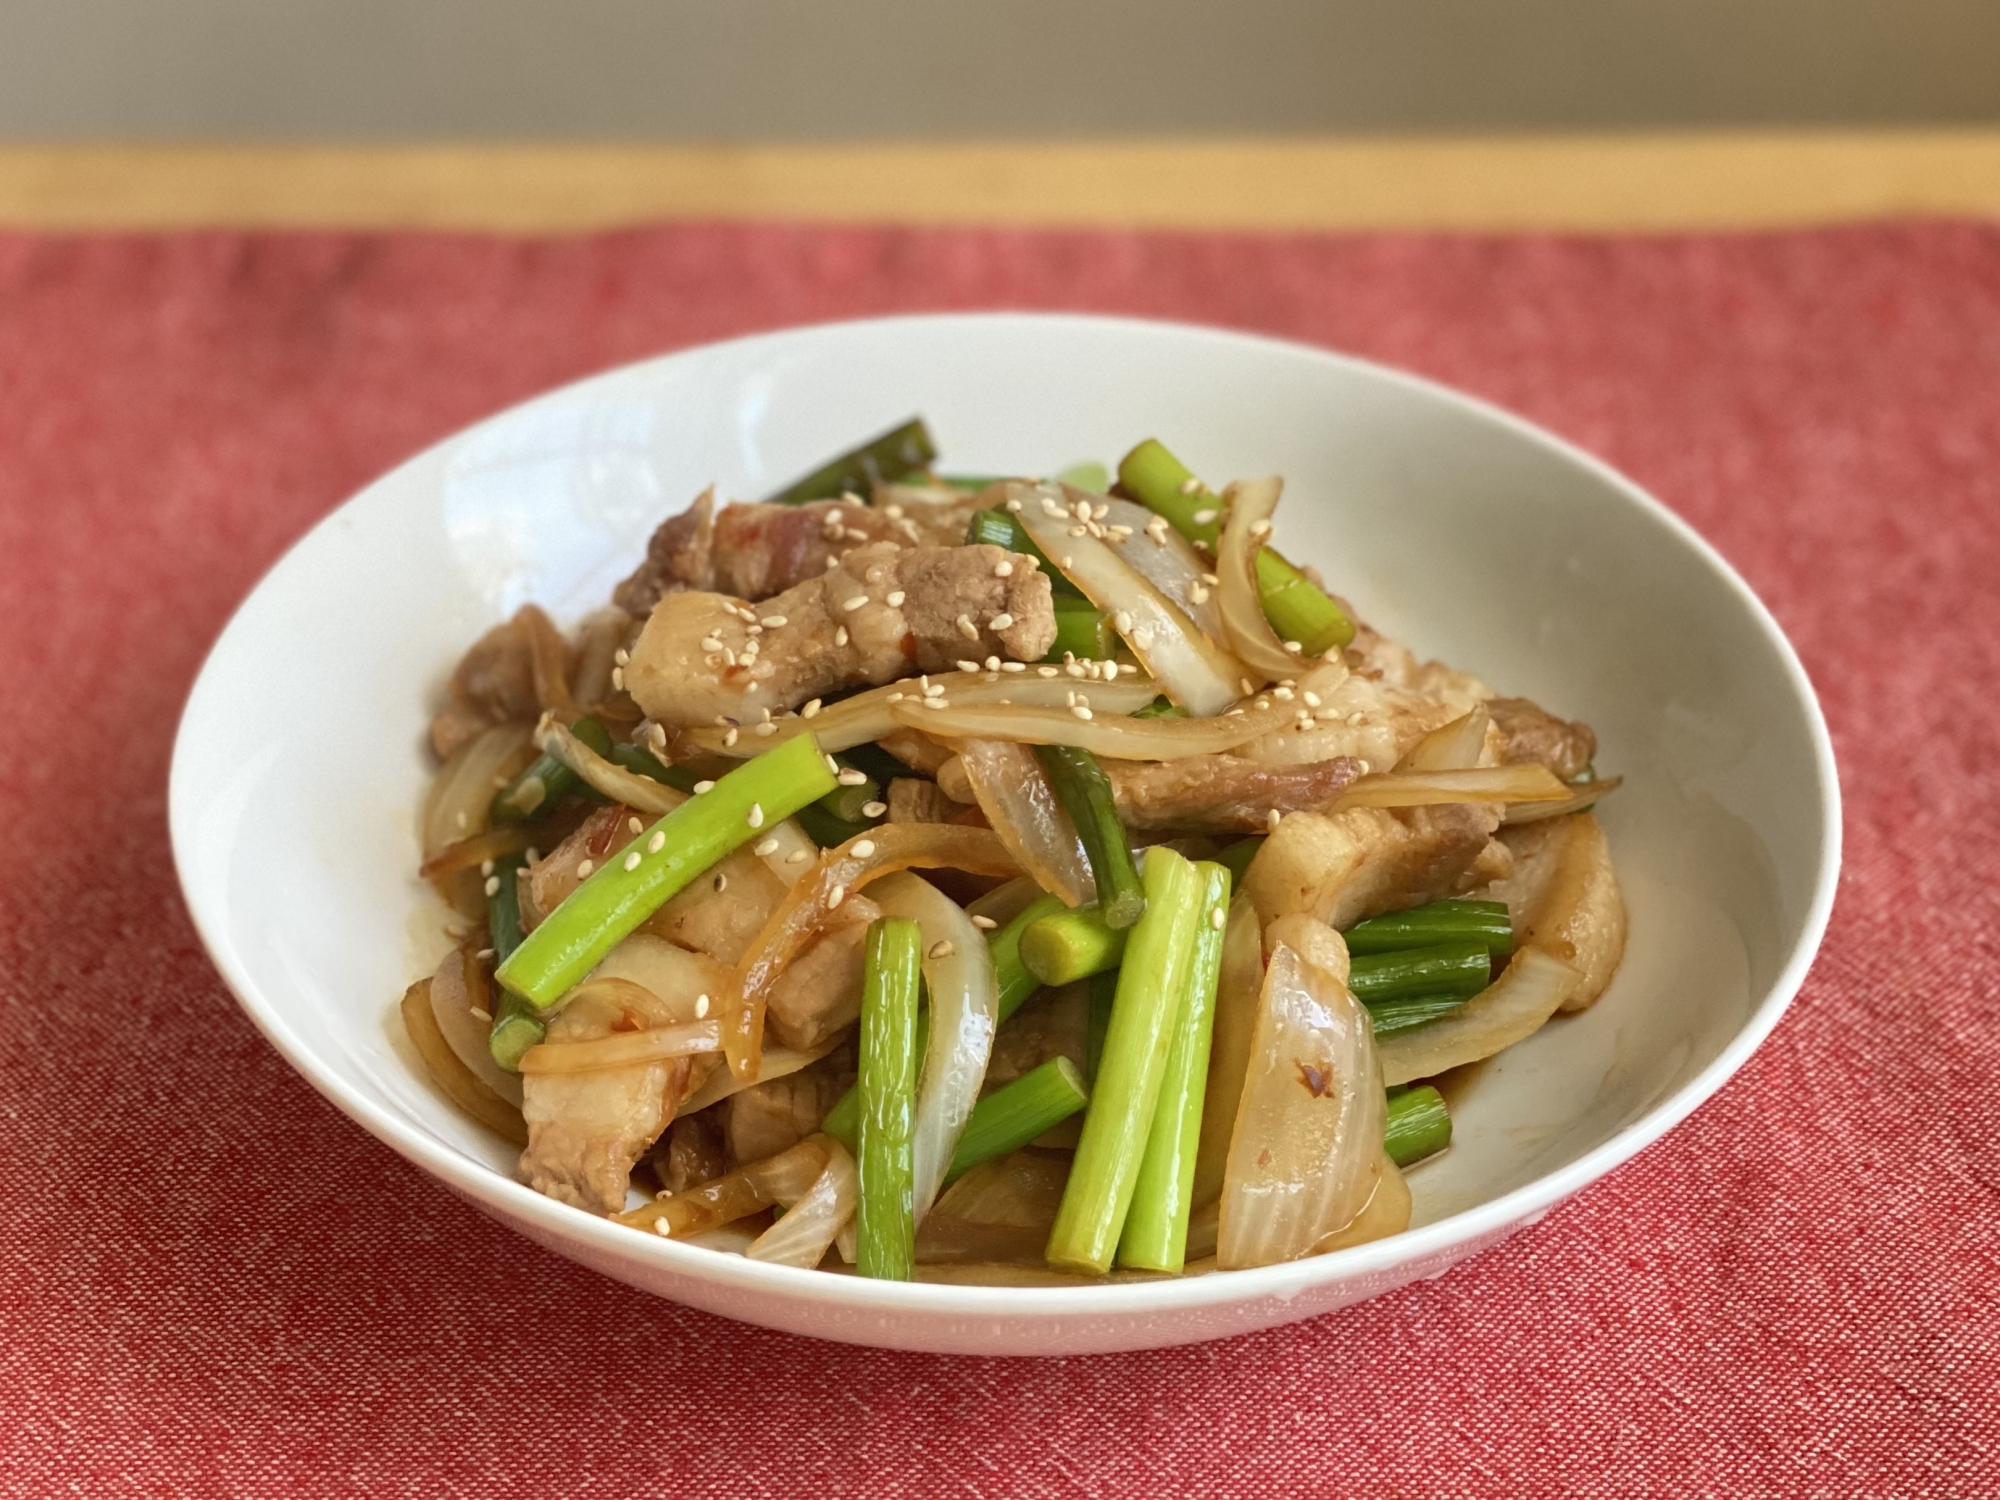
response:
[[(524, 600), (598, 604), (716, 482), (760, 496), (922, 412), (950, 468), (1050, 472), (1162, 436), (1278, 472), (1286, 550), (1422, 654), (1596, 726), (1632, 940), (1590, 1012), (1482, 1070), (1408, 1234), (1134, 1286), (908, 1286), (762, 1266), (564, 1208), (424, 1082), (394, 1002), (442, 952), (412, 870), (422, 732)], [(732, 1318), (968, 1354), (1184, 1344), (1374, 1296), (1534, 1222), (1706, 1100), (1804, 978), (1840, 812), (1778, 626), (1628, 480), (1434, 384), (1310, 348), (1072, 316), (742, 338), (584, 380), (370, 484), (272, 568), (196, 682), (172, 774), (188, 906), (244, 1010), (362, 1128), (558, 1254)]]

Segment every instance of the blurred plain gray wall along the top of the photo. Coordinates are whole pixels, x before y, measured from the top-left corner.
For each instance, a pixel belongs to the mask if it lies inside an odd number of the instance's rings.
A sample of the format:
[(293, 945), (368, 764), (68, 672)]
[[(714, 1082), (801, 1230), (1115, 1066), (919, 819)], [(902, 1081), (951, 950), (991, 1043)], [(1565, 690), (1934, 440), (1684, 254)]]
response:
[(2000, 120), (2000, 0), (0, 0), (0, 138)]

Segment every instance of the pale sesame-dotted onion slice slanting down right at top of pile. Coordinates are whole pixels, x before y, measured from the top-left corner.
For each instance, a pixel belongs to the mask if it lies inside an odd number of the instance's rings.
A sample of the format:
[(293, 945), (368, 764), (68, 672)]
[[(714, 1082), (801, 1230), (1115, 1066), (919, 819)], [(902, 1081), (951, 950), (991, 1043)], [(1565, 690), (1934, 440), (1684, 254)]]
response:
[(1060, 484), (1010, 484), (1006, 494), (1010, 510), (1020, 502), (1014, 518), (1028, 536), (1092, 604), (1112, 616), (1118, 634), (1158, 678), (1168, 698), (1206, 718), (1248, 692), (1242, 686), (1242, 664), (1134, 572), (1120, 556), (1122, 548), (1090, 534), (1102, 534), (1104, 528), (1074, 512), (1080, 504), (1092, 504), (1090, 496)]

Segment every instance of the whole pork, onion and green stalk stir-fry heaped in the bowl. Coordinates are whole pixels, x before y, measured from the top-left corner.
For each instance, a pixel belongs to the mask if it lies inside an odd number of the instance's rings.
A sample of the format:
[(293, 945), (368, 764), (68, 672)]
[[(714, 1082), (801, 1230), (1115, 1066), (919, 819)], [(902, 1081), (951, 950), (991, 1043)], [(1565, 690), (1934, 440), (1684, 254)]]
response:
[[(1116, 478), (1116, 482), (1112, 482)], [(404, 996), (532, 1188), (894, 1280), (1398, 1234), (1444, 1074), (1592, 1004), (1584, 724), (1272, 546), (1278, 480), (936, 470), (922, 422), (702, 494), (572, 632), (450, 678)]]

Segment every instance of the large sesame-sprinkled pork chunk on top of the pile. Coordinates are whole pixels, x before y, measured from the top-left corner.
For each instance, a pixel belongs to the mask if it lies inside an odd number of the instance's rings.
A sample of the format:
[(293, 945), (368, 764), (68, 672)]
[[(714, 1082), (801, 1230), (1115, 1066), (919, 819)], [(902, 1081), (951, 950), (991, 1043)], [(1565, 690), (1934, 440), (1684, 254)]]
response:
[(1036, 662), (1056, 640), (1048, 578), (998, 546), (864, 546), (758, 608), (668, 594), (632, 648), (626, 690), (670, 728), (756, 724), (838, 688)]

